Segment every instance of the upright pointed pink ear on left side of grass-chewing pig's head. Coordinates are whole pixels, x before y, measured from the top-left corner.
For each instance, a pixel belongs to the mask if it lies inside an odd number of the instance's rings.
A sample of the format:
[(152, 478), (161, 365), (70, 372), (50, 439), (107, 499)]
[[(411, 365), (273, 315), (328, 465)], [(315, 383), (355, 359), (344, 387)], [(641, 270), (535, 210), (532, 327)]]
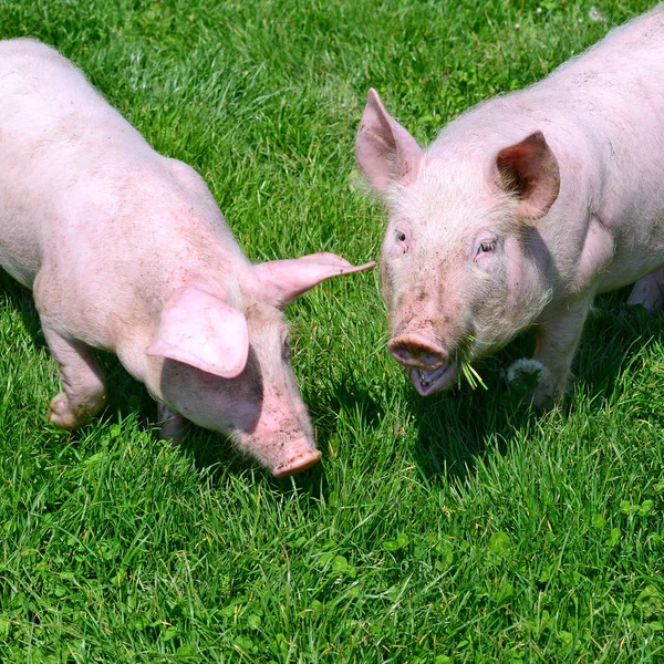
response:
[(372, 87), (355, 139), (357, 162), (378, 194), (414, 173), (422, 158), (417, 141), (390, 116)]

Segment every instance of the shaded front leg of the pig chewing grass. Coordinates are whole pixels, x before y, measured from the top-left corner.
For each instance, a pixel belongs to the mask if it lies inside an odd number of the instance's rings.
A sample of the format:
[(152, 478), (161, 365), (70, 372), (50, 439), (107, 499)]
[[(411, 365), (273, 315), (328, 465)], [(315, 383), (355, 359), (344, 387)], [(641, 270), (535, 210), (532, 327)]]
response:
[(546, 320), (536, 329), (533, 360), (541, 362), (550, 376), (543, 377), (532, 393), (536, 406), (544, 406), (566, 391), (570, 367), (592, 298), (566, 308), (548, 309)]

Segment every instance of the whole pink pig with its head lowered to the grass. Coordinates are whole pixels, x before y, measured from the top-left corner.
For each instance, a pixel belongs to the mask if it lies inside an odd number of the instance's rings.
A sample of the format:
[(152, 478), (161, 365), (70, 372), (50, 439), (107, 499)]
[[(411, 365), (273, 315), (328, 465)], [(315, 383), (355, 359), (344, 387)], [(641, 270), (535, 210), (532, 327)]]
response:
[(251, 264), (205, 181), (157, 154), (54, 50), (0, 42), (0, 264), (34, 291), (74, 428), (104, 404), (92, 347), (162, 404), (222, 432), (274, 475), (320, 458), (280, 307), (355, 272), (321, 253)]

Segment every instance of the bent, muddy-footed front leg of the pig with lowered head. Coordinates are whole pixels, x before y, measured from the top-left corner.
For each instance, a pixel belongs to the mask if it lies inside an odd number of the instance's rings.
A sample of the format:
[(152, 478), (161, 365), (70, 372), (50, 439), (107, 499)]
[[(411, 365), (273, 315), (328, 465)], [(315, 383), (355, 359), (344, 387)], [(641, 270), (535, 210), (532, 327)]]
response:
[(104, 407), (104, 376), (90, 346), (65, 339), (46, 325), (43, 325), (43, 331), (58, 362), (63, 386), (63, 392), (55, 395), (49, 405), (49, 419), (62, 428), (73, 429)]

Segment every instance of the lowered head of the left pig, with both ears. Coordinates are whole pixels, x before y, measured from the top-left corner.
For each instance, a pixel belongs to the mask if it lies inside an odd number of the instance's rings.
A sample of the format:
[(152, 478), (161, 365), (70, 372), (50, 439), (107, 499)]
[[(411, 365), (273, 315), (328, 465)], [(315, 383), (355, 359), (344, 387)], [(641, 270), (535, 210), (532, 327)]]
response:
[[(146, 349), (146, 384), (173, 413), (229, 436), (276, 476), (320, 458), (293, 375), (281, 308), (324, 279), (366, 269), (331, 253), (251, 266), (229, 292), (176, 289)], [(184, 422), (179, 422), (184, 425)]]

